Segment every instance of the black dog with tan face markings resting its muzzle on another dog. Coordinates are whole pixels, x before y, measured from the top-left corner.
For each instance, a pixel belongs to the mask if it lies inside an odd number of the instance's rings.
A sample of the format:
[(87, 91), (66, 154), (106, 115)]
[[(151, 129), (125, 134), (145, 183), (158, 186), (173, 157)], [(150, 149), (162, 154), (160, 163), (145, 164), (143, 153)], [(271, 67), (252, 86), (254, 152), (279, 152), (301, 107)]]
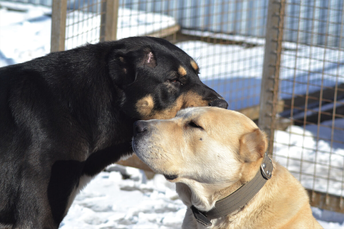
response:
[(228, 104), (184, 51), (153, 37), (0, 68), (0, 228), (58, 228), (80, 188), (131, 154), (132, 124)]

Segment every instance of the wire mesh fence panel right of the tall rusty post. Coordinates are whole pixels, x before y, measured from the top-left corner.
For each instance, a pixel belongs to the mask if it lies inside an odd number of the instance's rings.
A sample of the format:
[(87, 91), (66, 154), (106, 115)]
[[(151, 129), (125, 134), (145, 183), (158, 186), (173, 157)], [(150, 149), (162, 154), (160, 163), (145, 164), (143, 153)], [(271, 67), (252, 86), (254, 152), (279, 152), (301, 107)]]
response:
[(314, 205), (334, 195), (332, 208), (343, 212), (343, 1), (286, 1), (285, 9), (279, 96), (289, 125), (276, 128), (274, 156), (312, 190)]

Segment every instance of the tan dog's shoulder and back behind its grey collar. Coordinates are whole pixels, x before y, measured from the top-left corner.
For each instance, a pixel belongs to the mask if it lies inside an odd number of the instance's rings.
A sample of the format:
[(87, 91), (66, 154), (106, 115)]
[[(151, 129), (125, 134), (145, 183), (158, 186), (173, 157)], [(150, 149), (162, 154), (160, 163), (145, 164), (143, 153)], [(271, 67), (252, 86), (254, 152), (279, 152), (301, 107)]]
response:
[(300, 182), (278, 162), (273, 162), (273, 175), (258, 194), (248, 203), (247, 209), (238, 215), (228, 216), (226, 221), (255, 221), (247, 227), (227, 228), (322, 228), (312, 215), (309, 197)]

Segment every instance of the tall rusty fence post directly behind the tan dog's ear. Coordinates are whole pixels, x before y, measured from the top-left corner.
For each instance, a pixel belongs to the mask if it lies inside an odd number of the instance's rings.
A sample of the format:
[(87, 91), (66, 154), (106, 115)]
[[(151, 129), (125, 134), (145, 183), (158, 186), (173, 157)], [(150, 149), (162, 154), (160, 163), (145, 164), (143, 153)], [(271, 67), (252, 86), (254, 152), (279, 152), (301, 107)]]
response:
[(265, 38), (265, 54), (259, 102), (259, 128), (269, 136), (272, 154), (279, 88), (285, 0), (270, 0)]

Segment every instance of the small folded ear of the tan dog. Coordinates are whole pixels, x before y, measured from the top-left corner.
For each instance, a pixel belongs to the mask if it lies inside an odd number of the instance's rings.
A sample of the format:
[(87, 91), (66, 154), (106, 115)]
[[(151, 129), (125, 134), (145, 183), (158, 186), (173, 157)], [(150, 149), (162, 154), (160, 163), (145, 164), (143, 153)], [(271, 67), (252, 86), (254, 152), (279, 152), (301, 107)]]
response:
[(241, 136), (239, 141), (240, 156), (244, 162), (257, 161), (268, 148), (266, 134), (258, 128)]

